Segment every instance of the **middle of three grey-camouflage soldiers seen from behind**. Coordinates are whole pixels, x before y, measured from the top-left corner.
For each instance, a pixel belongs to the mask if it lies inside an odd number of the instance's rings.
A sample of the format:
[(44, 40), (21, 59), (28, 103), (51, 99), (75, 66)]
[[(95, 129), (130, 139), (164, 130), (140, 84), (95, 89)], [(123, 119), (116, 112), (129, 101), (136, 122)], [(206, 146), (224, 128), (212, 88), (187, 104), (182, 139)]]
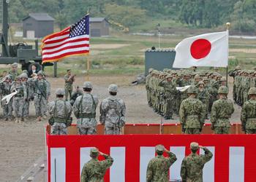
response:
[(91, 82), (84, 82), (83, 95), (80, 95), (73, 105), (73, 111), (78, 119), (78, 131), (80, 135), (94, 135), (97, 130), (96, 108), (99, 100), (91, 94)]

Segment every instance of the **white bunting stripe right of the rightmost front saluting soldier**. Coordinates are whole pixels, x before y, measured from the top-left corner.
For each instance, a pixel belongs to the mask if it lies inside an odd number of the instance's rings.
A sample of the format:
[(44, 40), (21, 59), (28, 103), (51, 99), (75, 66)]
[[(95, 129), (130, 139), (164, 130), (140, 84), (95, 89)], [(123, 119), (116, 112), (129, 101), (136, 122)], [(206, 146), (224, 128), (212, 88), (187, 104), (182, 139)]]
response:
[[(213, 154), (213, 157), (206, 165), (203, 167), (203, 181), (214, 182), (214, 156), (215, 156), (215, 147), (214, 146), (206, 146), (209, 151)], [(203, 149), (200, 149), (200, 154), (205, 154)]]

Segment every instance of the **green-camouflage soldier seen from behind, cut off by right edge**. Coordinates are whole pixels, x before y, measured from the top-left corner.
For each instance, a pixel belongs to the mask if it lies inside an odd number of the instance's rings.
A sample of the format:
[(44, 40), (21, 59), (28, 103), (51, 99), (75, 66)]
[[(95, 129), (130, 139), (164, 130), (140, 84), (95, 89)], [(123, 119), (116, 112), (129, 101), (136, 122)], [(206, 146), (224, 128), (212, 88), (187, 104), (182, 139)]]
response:
[(244, 103), (241, 111), (242, 130), (246, 134), (256, 134), (256, 88), (250, 88), (248, 95), (249, 100)]

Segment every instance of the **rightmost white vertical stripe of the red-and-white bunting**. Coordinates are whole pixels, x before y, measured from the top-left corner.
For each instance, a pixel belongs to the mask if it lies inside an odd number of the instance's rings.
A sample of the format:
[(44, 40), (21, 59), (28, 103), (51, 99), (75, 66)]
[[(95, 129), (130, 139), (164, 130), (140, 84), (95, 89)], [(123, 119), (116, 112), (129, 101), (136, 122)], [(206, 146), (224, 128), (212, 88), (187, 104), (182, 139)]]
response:
[(244, 182), (244, 147), (230, 147), (230, 182)]

